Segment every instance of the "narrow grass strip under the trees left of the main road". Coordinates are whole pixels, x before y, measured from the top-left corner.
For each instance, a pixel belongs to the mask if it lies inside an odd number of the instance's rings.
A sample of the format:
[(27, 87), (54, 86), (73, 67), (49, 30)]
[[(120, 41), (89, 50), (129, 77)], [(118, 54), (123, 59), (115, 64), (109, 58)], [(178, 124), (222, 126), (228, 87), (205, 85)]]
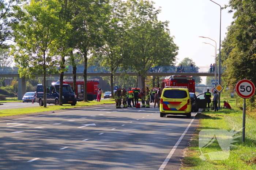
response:
[(35, 106), (38, 105), (38, 107), (0, 110), (0, 117), (38, 113), (38, 112), (44, 112), (44, 111), (63, 110), (63, 109), (75, 108), (75, 107), (94, 106), (99, 104), (114, 104), (114, 103), (116, 103), (114, 99), (101, 100), (101, 102), (97, 102), (93, 100), (90, 102), (77, 102), (76, 106), (71, 106), (70, 104), (63, 104), (63, 106), (54, 105), (54, 106), (47, 106), (46, 108), (40, 107), (38, 103), (35, 103)]

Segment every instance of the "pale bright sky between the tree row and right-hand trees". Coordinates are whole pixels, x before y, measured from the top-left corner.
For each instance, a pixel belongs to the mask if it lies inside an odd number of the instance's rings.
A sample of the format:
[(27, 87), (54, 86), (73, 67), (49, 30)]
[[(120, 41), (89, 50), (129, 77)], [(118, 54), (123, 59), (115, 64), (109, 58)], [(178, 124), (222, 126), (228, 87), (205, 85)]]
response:
[[(196, 66), (208, 67), (214, 63), (215, 42), (200, 38), (209, 37), (217, 42), (219, 54), (220, 7), (210, 0), (152, 0), (155, 7), (162, 7), (158, 19), (170, 21), (170, 34), (175, 37), (174, 43), (179, 47), (177, 64), (182, 59), (191, 58)], [(213, 0), (222, 7), (229, 0)], [(221, 40), (226, 36), (227, 27), (233, 21), (233, 13), (229, 9), (221, 12)]]

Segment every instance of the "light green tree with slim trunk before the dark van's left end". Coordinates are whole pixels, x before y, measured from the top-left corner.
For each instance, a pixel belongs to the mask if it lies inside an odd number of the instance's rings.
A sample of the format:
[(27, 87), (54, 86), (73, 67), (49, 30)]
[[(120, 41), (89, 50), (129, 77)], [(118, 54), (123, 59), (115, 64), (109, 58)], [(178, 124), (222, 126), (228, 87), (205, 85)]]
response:
[(56, 39), (63, 27), (59, 20), (60, 4), (57, 0), (31, 0), (23, 5), (22, 17), (15, 25), (15, 42), (12, 46), (20, 77), (34, 78), (44, 75), (44, 107), (46, 107), (46, 74), (57, 73)]

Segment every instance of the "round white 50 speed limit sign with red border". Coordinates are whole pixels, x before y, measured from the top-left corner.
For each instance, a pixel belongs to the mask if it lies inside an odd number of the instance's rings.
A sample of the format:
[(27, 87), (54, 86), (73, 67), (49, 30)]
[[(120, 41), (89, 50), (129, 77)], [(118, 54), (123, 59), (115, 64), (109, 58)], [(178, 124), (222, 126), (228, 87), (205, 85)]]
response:
[(255, 86), (250, 80), (243, 79), (237, 82), (236, 92), (241, 98), (248, 99), (254, 95)]

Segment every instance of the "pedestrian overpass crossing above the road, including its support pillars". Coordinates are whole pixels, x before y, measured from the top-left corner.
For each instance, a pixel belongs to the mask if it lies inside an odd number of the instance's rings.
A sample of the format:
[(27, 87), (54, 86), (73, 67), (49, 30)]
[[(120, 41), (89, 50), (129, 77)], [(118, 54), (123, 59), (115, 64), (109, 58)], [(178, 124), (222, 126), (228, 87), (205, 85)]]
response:
[[(18, 73), (18, 67), (0, 67), (0, 77), (18, 77), (18, 100), (22, 99), (22, 96), (26, 93), (26, 78), (20, 78)], [(219, 68), (215, 69), (218, 76)], [(221, 76), (225, 72), (226, 68), (221, 67)], [(68, 70), (64, 72), (64, 76), (73, 76), (73, 68), (68, 67)], [(83, 76), (84, 67), (77, 67), (76, 76)], [(138, 84), (141, 84), (141, 75), (132, 69), (118, 68), (114, 76), (121, 76), (123, 74), (130, 76), (139, 76)], [(110, 76), (110, 69), (108, 67), (90, 66), (87, 67), (87, 76)], [(182, 72), (176, 66), (155, 66), (150, 68), (146, 72), (146, 76), (170, 76), (170, 75), (184, 75), (184, 76), (215, 76), (214, 72), (210, 72), (209, 67), (183, 67)], [(36, 77), (44, 76), (43, 74), (35, 74)], [(47, 77), (58, 77), (60, 74), (47, 74)]]

